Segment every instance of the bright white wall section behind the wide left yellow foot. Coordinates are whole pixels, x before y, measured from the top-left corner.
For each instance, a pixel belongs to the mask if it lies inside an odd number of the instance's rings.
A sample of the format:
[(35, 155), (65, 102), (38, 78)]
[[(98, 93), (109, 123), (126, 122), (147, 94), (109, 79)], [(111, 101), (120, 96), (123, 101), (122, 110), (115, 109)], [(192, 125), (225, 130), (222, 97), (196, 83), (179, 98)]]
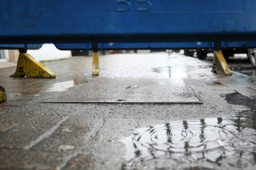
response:
[(44, 44), (39, 50), (28, 50), (28, 54), (38, 61), (66, 59), (71, 56), (71, 51), (61, 51), (53, 44)]

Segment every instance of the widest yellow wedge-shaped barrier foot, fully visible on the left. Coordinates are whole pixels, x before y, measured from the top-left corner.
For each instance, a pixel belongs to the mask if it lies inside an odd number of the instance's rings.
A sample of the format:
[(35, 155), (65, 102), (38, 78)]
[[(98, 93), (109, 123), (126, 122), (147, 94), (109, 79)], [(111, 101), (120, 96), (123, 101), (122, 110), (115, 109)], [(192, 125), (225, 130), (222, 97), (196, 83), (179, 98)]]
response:
[(16, 71), (11, 77), (56, 78), (55, 74), (28, 53), (20, 53)]

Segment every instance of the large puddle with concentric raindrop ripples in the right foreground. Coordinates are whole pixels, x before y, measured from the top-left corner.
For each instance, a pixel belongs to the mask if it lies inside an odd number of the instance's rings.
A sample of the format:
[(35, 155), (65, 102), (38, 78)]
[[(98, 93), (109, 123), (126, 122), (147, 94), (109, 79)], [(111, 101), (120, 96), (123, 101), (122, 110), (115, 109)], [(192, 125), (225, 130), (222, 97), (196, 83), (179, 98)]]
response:
[(122, 169), (256, 169), (256, 102), (239, 93), (226, 99), (246, 104), (250, 111), (137, 129), (122, 140), (126, 145)]

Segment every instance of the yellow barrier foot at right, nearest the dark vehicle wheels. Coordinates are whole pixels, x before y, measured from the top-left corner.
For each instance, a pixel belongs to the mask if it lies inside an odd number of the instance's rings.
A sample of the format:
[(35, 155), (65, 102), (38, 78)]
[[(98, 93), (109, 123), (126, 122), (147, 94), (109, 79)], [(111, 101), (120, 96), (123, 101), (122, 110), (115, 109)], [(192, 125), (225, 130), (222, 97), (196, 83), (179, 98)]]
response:
[(231, 70), (221, 51), (214, 51), (212, 72), (231, 76)]

